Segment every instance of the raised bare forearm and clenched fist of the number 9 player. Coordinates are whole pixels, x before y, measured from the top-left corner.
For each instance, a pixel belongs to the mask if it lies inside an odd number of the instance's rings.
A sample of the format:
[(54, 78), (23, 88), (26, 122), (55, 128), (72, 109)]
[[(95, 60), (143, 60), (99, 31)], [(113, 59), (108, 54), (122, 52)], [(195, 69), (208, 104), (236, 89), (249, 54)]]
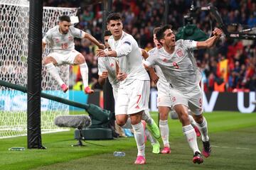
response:
[(217, 42), (217, 40), (220, 38), (221, 34), (222, 34), (222, 30), (220, 30), (219, 28), (215, 28), (213, 30), (213, 37), (208, 38), (205, 41), (197, 42), (196, 47), (198, 49), (213, 47), (215, 42)]

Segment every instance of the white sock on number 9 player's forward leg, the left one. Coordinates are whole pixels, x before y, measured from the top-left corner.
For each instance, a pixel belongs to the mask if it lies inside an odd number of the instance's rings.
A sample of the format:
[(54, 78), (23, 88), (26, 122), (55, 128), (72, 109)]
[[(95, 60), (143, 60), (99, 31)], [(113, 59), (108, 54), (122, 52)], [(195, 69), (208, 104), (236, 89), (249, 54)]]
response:
[(193, 150), (193, 153), (200, 152), (199, 149), (198, 149), (197, 141), (196, 141), (196, 132), (193, 129), (192, 125), (183, 126), (182, 127), (182, 132), (186, 136), (186, 140), (188, 141), (188, 145)]

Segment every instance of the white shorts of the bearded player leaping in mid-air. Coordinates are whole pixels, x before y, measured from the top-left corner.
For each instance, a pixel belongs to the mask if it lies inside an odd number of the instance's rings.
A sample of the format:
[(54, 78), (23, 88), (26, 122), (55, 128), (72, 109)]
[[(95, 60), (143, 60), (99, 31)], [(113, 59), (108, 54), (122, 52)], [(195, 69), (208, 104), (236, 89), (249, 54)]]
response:
[(53, 57), (58, 63), (58, 65), (61, 65), (61, 64), (74, 64), (75, 57), (77, 55), (81, 55), (81, 53), (78, 52), (77, 50), (72, 50), (65, 55), (59, 52), (50, 52), (48, 57)]

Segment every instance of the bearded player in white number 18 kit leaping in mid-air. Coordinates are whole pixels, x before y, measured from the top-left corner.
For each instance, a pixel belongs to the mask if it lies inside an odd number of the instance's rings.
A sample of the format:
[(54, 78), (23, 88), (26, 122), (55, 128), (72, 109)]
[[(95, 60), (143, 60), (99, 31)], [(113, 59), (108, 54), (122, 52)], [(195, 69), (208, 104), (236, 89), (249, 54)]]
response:
[(44, 64), (46, 64), (46, 69), (53, 79), (58, 82), (63, 92), (68, 91), (68, 86), (60, 78), (55, 66), (61, 64), (79, 64), (83, 85), (85, 86), (85, 94), (92, 94), (94, 91), (88, 86), (88, 67), (85, 62), (85, 57), (75, 50), (74, 38), (87, 38), (100, 49), (105, 48), (105, 46), (92, 37), (92, 35), (71, 26), (69, 16), (60, 16), (58, 26), (48, 30), (43, 37), (43, 49), (48, 45), (51, 50), (50, 54), (45, 58)]

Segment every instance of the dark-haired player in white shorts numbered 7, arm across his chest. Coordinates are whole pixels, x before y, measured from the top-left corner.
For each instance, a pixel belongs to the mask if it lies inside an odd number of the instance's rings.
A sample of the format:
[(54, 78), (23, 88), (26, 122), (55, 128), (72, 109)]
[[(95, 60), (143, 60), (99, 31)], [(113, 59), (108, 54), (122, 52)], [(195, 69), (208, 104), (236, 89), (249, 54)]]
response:
[(148, 109), (150, 82), (149, 75), (142, 65), (141, 50), (136, 40), (122, 30), (122, 18), (119, 13), (107, 16), (107, 29), (112, 36), (109, 44), (111, 51), (98, 50), (99, 57), (118, 57), (120, 72), (127, 74), (127, 78), (120, 81), (117, 91), (115, 114), (117, 125), (127, 123), (131, 118), (134, 138), (137, 143), (137, 159), (134, 164), (145, 164), (144, 128), (142, 113)]

